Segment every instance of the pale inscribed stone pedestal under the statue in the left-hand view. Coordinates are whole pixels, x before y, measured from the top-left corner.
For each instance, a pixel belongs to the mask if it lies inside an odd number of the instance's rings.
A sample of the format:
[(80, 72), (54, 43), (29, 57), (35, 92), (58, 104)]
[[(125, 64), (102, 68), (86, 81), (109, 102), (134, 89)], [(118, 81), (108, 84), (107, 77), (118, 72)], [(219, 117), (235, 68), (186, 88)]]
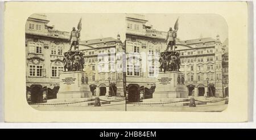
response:
[(69, 71), (60, 74), (60, 90), (57, 93), (57, 99), (81, 97), (92, 97), (90, 87), (85, 82), (84, 71)]

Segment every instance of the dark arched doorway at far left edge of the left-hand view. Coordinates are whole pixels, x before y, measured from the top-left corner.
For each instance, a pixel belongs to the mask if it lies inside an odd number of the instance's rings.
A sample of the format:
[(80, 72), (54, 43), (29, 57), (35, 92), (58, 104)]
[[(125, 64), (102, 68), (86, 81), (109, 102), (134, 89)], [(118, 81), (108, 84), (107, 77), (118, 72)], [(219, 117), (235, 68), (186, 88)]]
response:
[(43, 91), (40, 84), (34, 84), (31, 86), (31, 102), (43, 103)]

